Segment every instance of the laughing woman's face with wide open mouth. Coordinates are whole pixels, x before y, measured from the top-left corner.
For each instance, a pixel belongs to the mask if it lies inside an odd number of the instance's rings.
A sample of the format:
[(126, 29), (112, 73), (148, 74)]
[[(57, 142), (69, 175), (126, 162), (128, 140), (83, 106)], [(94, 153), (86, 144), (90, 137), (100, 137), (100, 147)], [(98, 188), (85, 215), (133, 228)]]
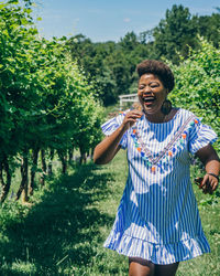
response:
[(139, 79), (138, 96), (146, 114), (157, 114), (167, 96), (168, 89), (156, 75), (144, 74)]

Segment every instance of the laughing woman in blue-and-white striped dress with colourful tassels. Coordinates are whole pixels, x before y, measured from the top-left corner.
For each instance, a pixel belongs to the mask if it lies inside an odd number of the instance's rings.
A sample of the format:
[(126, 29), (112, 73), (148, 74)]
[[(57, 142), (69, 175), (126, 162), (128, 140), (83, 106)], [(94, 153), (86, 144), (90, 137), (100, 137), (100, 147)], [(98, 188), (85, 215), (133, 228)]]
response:
[(193, 192), (190, 155), (204, 162), (200, 184), (212, 193), (219, 181), (213, 130), (166, 99), (170, 68), (158, 61), (138, 65), (141, 110), (102, 125), (107, 136), (95, 149), (98, 164), (128, 149), (129, 177), (105, 246), (129, 256), (129, 275), (175, 275), (178, 263), (210, 252)]

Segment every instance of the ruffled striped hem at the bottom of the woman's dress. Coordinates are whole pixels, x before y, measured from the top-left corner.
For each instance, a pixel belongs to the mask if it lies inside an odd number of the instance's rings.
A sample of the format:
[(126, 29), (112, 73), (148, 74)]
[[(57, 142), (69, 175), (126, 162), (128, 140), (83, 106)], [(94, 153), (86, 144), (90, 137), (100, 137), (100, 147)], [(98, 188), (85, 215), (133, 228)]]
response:
[(210, 252), (208, 241), (204, 234), (173, 244), (154, 244), (120, 232), (112, 232), (103, 246), (117, 251), (119, 254), (129, 257), (141, 257), (160, 265), (187, 261)]

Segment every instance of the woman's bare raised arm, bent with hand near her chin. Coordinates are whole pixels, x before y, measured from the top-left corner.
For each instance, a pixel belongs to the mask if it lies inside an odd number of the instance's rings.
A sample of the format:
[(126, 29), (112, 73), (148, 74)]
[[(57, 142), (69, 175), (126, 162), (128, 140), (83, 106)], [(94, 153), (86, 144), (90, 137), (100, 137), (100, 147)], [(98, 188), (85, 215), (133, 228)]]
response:
[(110, 162), (120, 149), (120, 140), (125, 131), (134, 125), (136, 119), (141, 118), (142, 113), (139, 110), (129, 112), (121, 126), (110, 136), (107, 136), (100, 144), (98, 144), (94, 151), (94, 161), (97, 164), (105, 164)]

